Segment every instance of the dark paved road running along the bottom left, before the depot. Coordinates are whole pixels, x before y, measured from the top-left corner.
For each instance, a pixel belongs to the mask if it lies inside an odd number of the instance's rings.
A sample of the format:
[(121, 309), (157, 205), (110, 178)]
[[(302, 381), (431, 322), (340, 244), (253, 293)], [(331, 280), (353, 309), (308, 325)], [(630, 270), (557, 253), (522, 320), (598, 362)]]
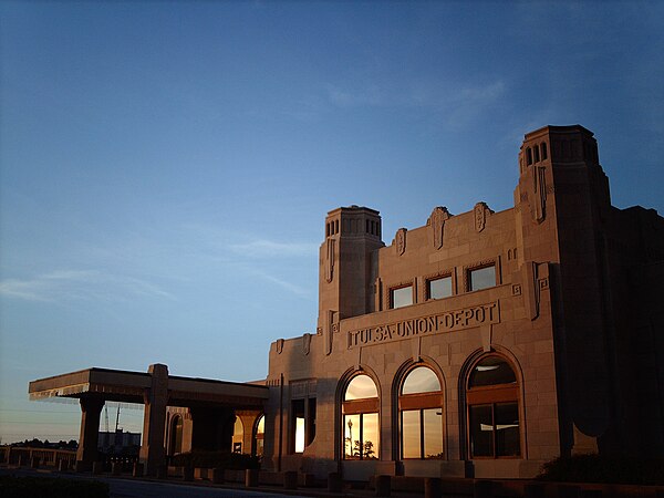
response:
[[(8, 474), (13, 474), (17, 476), (92, 479), (91, 476), (76, 474), (62, 475), (59, 473), (39, 471), (28, 468), (0, 468), (0, 475)], [(108, 484), (111, 488), (111, 498), (307, 498), (305, 495), (280, 495), (277, 492), (266, 492), (261, 490), (248, 491), (245, 489), (206, 487), (173, 483), (155, 483), (138, 479), (122, 479), (113, 477), (95, 477), (95, 479)]]

